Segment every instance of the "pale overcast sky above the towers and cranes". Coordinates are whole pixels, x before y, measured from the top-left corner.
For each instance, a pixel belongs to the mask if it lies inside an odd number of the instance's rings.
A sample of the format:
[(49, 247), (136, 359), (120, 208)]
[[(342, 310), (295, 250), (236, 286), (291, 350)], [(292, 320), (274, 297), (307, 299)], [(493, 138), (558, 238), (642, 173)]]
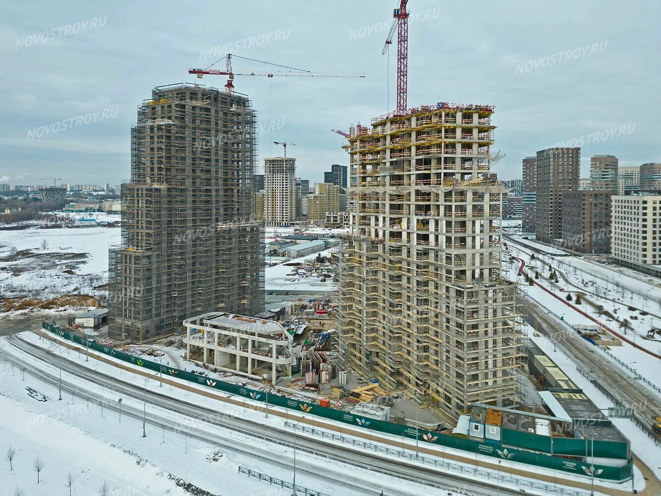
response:
[[(390, 91), (381, 48), (396, 3), (3, 0), (0, 182), (128, 180), (137, 105), (155, 86), (198, 82), (188, 67), (228, 49), (366, 76), (235, 79), (264, 130), (260, 166), (282, 151), (271, 142), (290, 142), (297, 175), (323, 181), (331, 163), (348, 163), (331, 129), (393, 110), (396, 45)], [(500, 178), (521, 177), (522, 158), (539, 149), (580, 140), (582, 177), (595, 154), (620, 165), (661, 161), (659, 1), (410, 0), (409, 11), (408, 105), (495, 105)], [(234, 61), (237, 72), (263, 68)]]

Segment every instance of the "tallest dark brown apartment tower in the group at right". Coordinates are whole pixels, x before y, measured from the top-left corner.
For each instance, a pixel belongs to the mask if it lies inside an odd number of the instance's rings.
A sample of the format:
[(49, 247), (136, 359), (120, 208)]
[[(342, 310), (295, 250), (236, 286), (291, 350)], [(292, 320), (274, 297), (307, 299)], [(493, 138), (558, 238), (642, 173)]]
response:
[(563, 235), (563, 192), (578, 190), (580, 148), (547, 148), (537, 151), (536, 235), (552, 243)]

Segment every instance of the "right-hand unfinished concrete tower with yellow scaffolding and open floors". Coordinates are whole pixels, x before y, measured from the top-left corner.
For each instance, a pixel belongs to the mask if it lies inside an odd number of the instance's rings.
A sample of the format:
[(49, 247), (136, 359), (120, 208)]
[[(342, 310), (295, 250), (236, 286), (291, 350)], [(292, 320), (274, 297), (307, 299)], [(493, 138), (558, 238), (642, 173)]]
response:
[(490, 106), (440, 103), (350, 130), (340, 359), (448, 421), (516, 403), (516, 286), (500, 276)]

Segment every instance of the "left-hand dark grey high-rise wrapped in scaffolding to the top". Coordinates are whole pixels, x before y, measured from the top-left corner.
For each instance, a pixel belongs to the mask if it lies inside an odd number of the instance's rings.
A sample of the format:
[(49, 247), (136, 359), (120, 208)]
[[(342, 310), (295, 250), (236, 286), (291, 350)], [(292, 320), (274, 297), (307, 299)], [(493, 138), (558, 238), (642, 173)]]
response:
[(256, 140), (239, 93), (182, 83), (139, 105), (122, 243), (110, 249), (110, 337), (145, 341), (200, 312), (264, 310)]

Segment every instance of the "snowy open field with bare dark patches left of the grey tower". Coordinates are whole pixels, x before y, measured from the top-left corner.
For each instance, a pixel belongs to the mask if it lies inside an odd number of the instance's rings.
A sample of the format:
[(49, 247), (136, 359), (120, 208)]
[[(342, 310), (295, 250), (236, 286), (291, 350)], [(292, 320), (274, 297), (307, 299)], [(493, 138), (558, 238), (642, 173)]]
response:
[(0, 294), (104, 295), (96, 288), (108, 282), (108, 247), (119, 242), (116, 227), (0, 231)]

